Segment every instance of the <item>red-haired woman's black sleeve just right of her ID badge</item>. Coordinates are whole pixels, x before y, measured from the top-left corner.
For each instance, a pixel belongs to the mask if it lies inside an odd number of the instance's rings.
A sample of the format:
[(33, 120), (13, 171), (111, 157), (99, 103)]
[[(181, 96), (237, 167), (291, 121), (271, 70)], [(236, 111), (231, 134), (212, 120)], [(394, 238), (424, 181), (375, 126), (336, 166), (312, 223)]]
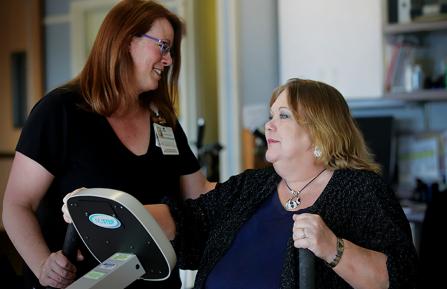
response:
[(180, 163), (182, 166), (179, 168), (180, 174), (189, 175), (197, 172), (200, 169), (199, 162), (193, 154), (191, 147), (188, 144), (186, 134), (178, 121), (175, 126), (175, 140), (181, 158)]

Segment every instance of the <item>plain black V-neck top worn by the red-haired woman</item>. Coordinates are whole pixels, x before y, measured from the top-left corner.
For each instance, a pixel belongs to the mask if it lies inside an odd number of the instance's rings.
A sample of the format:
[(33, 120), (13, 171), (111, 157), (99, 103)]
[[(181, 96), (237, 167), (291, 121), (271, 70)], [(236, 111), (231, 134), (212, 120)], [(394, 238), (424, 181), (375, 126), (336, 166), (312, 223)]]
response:
[[(67, 193), (80, 187), (110, 188), (143, 204), (160, 203), (165, 196), (179, 198), (179, 177), (199, 170), (179, 123), (174, 130), (179, 155), (163, 155), (151, 129), (147, 153), (137, 156), (121, 143), (104, 116), (81, 109), (82, 101), (73, 90), (50, 92), (31, 111), (16, 148), (55, 177), (37, 210), (51, 251), (62, 248), (66, 224), (61, 206)], [(97, 262), (80, 264), (78, 270), (92, 265)], [(172, 274), (174, 279), (177, 275)], [(156, 288), (164, 288), (162, 283), (166, 282), (157, 282)], [(175, 284), (180, 287), (178, 280)], [(149, 288), (148, 282), (144, 285)]]

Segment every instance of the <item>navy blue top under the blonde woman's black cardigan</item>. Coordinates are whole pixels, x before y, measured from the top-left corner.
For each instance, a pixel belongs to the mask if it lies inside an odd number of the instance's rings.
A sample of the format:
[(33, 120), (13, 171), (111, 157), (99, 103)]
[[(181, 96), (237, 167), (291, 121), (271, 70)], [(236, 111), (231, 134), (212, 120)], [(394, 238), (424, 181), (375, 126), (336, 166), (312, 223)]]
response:
[(294, 213), (283, 208), (278, 193), (266, 199), (213, 268), (206, 288), (279, 288)]

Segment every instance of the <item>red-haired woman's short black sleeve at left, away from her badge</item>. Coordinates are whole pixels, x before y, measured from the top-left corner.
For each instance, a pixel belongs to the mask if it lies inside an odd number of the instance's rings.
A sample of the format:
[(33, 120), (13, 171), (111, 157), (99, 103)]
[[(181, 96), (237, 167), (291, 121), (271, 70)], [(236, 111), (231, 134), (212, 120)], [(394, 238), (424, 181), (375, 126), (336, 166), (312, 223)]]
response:
[(16, 146), (16, 151), (35, 160), (53, 175), (61, 170), (67, 148), (67, 110), (61, 97), (63, 95), (53, 91), (33, 107)]

